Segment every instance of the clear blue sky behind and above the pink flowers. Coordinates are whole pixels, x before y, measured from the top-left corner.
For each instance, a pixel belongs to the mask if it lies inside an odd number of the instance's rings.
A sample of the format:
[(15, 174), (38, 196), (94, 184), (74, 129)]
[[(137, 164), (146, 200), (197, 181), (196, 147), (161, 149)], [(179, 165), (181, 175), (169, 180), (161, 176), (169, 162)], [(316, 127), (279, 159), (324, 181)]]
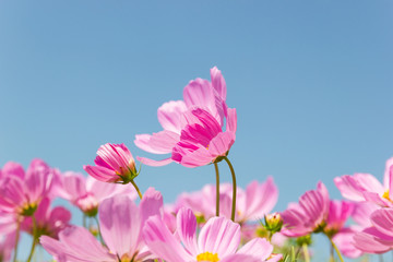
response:
[[(1, 1), (0, 165), (83, 172), (107, 142), (152, 156), (134, 135), (162, 130), (157, 108), (217, 66), (239, 186), (273, 176), (275, 211), (318, 181), (341, 198), (334, 177), (382, 179), (393, 156), (392, 22), (389, 0)], [(214, 168), (144, 166), (136, 182), (171, 202)]]

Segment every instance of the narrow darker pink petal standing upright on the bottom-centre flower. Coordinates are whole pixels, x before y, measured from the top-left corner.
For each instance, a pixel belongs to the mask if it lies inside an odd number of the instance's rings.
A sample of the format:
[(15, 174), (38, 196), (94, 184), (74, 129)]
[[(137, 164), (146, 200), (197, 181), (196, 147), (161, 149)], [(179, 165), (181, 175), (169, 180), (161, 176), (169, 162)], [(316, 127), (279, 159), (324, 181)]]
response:
[(177, 214), (177, 234), (191, 253), (198, 253), (196, 245), (196, 218), (190, 209), (182, 207)]

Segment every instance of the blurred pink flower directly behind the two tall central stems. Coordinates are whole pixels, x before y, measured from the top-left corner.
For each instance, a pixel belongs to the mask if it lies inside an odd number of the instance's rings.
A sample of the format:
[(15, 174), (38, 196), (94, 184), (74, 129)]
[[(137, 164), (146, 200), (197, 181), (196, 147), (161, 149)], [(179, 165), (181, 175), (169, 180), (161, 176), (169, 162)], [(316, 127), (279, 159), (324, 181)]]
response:
[[(230, 217), (231, 211), (231, 184), (219, 186), (221, 215)], [(183, 193), (177, 200), (177, 206), (191, 209), (195, 215), (209, 219), (215, 216), (216, 189), (214, 184), (206, 184), (202, 190), (193, 193)], [(252, 181), (247, 186), (246, 191), (237, 188), (237, 203), (235, 221), (245, 224), (246, 222), (259, 221), (270, 213), (278, 199), (278, 189), (272, 177), (259, 183)]]

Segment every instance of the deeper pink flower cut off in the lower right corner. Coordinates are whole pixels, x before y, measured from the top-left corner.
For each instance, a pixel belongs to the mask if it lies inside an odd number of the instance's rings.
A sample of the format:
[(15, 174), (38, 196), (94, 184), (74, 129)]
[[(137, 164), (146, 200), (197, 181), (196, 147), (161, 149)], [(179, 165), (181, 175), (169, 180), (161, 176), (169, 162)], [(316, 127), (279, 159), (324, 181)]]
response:
[(393, 249), (393, 209), (380, 209), (370, 216), (373, 226), (354, 237), (354, 245), (366, 253), (384, 253)]

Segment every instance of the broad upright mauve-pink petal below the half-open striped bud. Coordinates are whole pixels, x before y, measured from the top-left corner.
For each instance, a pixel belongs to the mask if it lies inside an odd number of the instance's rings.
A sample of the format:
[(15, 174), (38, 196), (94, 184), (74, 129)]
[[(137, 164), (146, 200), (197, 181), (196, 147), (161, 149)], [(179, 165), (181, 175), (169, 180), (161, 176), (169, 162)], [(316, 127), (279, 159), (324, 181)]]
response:
[(127, 195), (106, 199), (99, 206), (99, 224), (109, 250), (118, 255), (133, 254), (138, 248), (141, 215), (138, 206)]

